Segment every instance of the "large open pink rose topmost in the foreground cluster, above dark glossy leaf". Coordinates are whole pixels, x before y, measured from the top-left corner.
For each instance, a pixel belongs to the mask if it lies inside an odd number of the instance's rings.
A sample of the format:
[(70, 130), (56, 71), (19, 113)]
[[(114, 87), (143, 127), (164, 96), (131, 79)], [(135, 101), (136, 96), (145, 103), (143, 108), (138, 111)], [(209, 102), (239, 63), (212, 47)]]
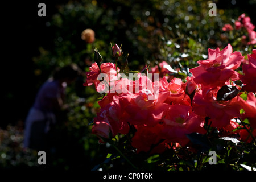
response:
[(219, 48), (208, 49), (209, 59), (197, 61), (200, 66), (190, 69), (196, 84), (214, 88), (225, 85), (229, 79), (237, 80), (238, 73), (234, 70), (240, 66), (243, 56), (240, 52), (232, 53), (232, 50), (230, 44), (222, 51)]

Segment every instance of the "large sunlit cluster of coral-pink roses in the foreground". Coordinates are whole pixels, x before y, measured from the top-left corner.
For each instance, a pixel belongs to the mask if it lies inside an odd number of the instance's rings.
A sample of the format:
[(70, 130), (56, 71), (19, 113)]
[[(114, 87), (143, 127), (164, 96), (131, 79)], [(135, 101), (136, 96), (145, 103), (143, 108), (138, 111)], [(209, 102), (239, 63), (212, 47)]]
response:
[[(119, 48), (116, 44), (114, 47)], [(250, 141), (246, 130), (233, 130), (240, 126), (234, 118), (247, 118), (256, 129), (256, 49), (248, 55), (249, 64), (240, 52), (233, 52), (230, 44), (222, 51), (217, 48), (208, 52), (207, 60), (197, 61), (199, 66), (190, 69), (193, 76), (187, 77), (187, 82), (175, 77), (168, 82), (165, 76), (152, 81), (141, 73), (137, 73), (138, 80), (129, 80), (118, 77), (117, 62), (93, 63), (85, 86), (94, 84), (100, 90), (97, 77), (106, 73), (112, 76), (108, 84), (127, 92), (109, 92), (98, 101), (101, 109), (94, 118), (92, 133), (104, 142), (118, 133), (128, 134), (133, 127), (131, 145), (137, 152), (160, 153), (171, 147), (170, 143), (188, 144), (187, 134), (205, 134), (207, 120), (212, 127), (240, 133), (241, 140)], [(236, 71), (241, 64), (243, 75)], [(238, 80), (242, 84), (234, 84)], [(225, 85), (228, 91), (220, 94)], [(139, 92), (133, 92), (135, 88)], [(239, 96), (242, 93), (247, 93), (247, 100)]]

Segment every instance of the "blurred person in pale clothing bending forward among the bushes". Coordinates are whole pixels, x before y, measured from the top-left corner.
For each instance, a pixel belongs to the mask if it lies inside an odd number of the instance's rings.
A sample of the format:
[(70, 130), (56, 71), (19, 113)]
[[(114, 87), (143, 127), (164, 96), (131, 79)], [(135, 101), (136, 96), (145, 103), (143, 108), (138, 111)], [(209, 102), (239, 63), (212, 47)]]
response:
[(79, 68), (76, 64), (70, 64), (57, 69), (53, 78), (49, 78), (39, 88), (25, 121), (25, 148), (47, 149), (47, 134), (56, 125), (57, 115), (67, 109), (67, 104), (63, 101), (65, 88), (75, 81), (77, 76), (79, 76)]

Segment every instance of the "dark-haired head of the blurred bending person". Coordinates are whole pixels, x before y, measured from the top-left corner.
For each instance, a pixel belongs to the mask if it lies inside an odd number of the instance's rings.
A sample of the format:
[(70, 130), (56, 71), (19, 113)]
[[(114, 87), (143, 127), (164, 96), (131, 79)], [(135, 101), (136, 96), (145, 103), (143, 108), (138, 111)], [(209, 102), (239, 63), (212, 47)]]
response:
[(77, 76), (79, 76), (79, 68), (76, 64), (69, 64), (63, 68), (59, 68), (53, 74), (54, 80), (60, 80), (61, 82), (66, 82), (67, 84), (71, 84), (71, 82), (75, 81)]

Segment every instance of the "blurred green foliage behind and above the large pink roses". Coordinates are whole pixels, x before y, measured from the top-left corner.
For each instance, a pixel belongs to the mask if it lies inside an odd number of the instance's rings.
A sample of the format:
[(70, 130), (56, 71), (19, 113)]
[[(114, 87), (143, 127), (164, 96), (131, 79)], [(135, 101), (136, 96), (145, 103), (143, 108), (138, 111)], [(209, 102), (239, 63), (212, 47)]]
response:
[[(209, 3), (217, 3), (217, 16), (208, 15)], [(105, 61), (113, 61), (110, 42), (122, 44), (129, 53), (130, 70), (144, 64), (154, 66), (167, 61), (173, 68), (192, 68), (205, 59), (208, 48), (237, 46), (237, 36), (221, 28), (241, 15), (234, 9), (218, 9), (218, 1), (69, 1), (59, 5), (59, 12), (46, 26), (52, 29), (51, 51), (40, 47), (34, 57), (35, 75), (46, 78), (55, 67), (75, 62), (84, 70), (93, 60), (93, 47), (98, 47)], [(81, 40), (81, 32), (92, 28), (96, 41)], [(242, 35), (242, 34), (240, 34)], [(240, 45), (238, 50), (252, 46)], [(40, 82), (39, 82), (40, 84)]]

